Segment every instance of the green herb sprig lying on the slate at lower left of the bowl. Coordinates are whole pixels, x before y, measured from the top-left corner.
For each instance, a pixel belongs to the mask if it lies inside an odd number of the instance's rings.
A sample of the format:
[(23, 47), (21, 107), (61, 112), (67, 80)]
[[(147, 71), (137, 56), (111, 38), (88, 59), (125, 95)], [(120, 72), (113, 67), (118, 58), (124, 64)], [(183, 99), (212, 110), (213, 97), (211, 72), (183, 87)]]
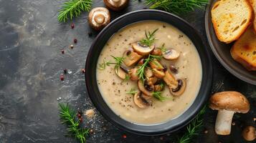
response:
[(59, 104), (60, 107), (60, 119), (62, 124), (67, 124), (67, 132), (71, 136), (78, 139), (81, 143), (85, 143), (85, 136), (89, 134), (89, 129), (81, 129), (80, 122), (77, 121), (75, 110), (71, 109), (68, 104)]

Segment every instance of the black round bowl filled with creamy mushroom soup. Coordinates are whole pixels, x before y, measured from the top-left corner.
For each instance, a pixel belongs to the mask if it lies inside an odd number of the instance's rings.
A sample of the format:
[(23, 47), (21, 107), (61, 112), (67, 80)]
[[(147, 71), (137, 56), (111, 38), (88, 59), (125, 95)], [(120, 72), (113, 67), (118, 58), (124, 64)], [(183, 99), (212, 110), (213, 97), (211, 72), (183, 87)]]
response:
[(136, 134), (183, 127), (212, 85), (212, 62), (200, 36), (179, 17), (156, 10), (110, 23), (96, 37), (85, 68), (95, 107)]

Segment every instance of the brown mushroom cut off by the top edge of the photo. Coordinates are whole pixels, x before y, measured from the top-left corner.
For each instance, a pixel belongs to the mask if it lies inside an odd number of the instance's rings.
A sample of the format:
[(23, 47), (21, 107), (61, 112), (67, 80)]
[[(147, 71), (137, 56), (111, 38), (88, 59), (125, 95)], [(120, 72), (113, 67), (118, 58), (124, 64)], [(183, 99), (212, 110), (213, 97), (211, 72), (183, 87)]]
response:
[(120, 11), (128, 6), (129, 0), (104, 0), (105, 5), (108, 9), (113, 11)]

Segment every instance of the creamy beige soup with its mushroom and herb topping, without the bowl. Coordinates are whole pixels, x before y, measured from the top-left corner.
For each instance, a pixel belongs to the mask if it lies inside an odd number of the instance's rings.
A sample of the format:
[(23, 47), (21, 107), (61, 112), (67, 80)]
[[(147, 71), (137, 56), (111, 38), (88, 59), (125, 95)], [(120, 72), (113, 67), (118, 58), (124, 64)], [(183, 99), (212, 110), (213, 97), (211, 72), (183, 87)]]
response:
[(194, 102), (202, 81), (194, 44), (161, 21), (141, 21), (120, 29), (101, 51), (96, 72), (110, 109), (137, 124), (179, 117)]

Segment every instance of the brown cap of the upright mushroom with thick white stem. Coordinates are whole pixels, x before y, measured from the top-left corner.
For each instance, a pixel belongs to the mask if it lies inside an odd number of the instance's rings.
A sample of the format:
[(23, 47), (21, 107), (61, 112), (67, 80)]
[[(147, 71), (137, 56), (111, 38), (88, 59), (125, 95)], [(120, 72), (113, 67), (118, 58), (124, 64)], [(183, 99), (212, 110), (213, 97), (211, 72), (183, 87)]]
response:
[(250, 103), (240, 92), (218, 92), (209, 99), (209, 107), (217, 110), (247, 113), (250, 110)]

